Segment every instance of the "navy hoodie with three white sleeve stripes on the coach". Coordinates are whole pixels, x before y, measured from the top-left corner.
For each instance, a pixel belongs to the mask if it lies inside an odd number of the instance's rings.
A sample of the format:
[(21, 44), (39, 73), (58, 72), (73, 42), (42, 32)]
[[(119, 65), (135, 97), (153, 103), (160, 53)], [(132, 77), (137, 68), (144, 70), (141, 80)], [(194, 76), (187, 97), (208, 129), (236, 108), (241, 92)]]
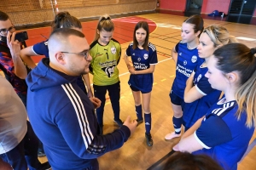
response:
[(121, 147), (128, 127), (98, 135), (94, 106), (76, 83), (44, 58), (26, 78), (27, 114), (53, 169), (84, 169), (98, 156)]

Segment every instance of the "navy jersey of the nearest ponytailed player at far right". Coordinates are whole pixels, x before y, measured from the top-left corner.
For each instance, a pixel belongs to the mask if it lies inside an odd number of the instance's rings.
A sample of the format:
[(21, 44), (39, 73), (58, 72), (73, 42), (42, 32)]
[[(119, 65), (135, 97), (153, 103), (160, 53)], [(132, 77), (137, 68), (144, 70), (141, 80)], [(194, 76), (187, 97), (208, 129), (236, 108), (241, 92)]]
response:
[(243, 111), (238, 120), (236, 101), (221, 99), (207, 112), (201, 127), (195, 131), (196, 140), (203, 146), (194, 154), (207, 154), (224, 167), (237, 169), (237, 162), (247, 150), (254, 127), (246, 127), (247, 113)]

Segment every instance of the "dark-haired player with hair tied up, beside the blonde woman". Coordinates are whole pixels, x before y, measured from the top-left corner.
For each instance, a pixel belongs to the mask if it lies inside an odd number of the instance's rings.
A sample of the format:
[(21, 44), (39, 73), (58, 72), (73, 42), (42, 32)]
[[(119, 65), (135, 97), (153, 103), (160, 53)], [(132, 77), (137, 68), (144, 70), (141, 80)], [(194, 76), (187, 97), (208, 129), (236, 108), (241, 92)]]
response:
[(176, 77), (172, 84), (170, 98), (172, 102), (172, 122), (175, 132), (166, 134), (165, 139), (180, 137), (183, 123), (183, 96), (188, 80), (195, 66), (202, 63), (204, 59), (199, 58), (197, 46), (199, 36), (203, 31), (203, 20), (200, 15), (192, 15), (184, 20), (182, 25), (182, 41), (178, 42), (172, 49), (172, 58), (176, 63)]

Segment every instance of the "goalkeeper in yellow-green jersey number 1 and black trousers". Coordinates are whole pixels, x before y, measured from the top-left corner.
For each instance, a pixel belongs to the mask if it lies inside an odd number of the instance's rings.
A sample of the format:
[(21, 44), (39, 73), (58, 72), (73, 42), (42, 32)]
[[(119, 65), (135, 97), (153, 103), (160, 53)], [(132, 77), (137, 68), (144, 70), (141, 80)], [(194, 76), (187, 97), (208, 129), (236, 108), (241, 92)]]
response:
[(103, 112), (108, 95), (113, 108), (113, 122), (119, 127), (123, 122), (119, 118), (120, 106), (120, 82), (117, 65), (121, 55), (121, 46), (113, 39), (113, 21), (108, 15), (104, 15), (98, 21), (94, 42), (90, 44), (90, 73), (93, 74), (93, 88), (96, 98), (102, 101), (102, 105), (96, 110), (96, 116), (100, 125), (100, 133), (103, 133)]

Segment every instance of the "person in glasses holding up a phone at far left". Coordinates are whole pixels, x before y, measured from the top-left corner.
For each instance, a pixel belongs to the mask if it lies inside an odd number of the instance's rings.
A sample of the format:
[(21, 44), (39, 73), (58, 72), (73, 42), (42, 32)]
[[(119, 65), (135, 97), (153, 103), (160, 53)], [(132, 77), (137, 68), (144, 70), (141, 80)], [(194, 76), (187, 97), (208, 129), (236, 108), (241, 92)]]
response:
[(15, 35), (15, 26), (9, 20), (8, 14), (0, 11), (0, 70), (26, 105), (27, 87), (24, 79), (29, 69), (20, 58), (20, 42), (15, 40)]

